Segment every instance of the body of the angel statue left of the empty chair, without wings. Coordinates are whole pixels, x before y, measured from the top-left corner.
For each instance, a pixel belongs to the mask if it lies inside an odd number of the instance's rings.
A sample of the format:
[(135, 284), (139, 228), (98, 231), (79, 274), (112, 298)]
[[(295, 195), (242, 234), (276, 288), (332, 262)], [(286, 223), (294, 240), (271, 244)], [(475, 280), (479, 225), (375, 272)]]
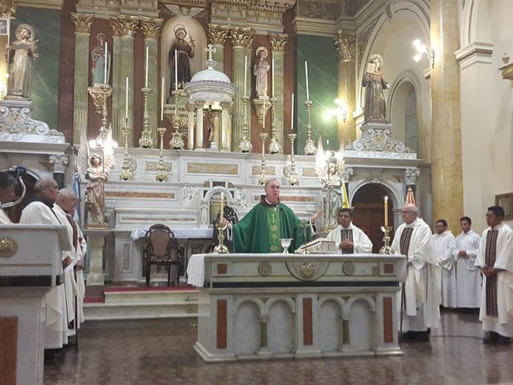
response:
[(89, 207), (88, 223), (104, 224), (105, 182), (108, 174), (102, 167), (102, 158), (93, 154), (89, 158), (89, 168), (86, 170), (87, 182), (86, 204)]

